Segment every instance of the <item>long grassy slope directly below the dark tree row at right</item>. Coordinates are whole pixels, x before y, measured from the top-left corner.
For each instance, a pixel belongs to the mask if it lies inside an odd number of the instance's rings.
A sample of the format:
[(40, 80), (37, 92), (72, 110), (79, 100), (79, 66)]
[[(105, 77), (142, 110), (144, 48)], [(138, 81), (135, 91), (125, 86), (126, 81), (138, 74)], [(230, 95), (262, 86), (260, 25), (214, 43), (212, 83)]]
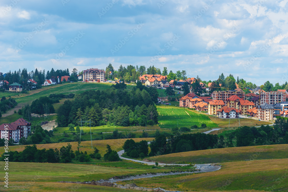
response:
[(231, 161), (247, 161), (261, 159), (286, 159), (288, 158), (288, 144), (261, 145), (249, 147), (229, 147), (222, 149), (207, 149), (188, 151), (149, 157), (148, 160), (161, 163), (175, 163), (178, 161), (196, 164), (223, 163)]

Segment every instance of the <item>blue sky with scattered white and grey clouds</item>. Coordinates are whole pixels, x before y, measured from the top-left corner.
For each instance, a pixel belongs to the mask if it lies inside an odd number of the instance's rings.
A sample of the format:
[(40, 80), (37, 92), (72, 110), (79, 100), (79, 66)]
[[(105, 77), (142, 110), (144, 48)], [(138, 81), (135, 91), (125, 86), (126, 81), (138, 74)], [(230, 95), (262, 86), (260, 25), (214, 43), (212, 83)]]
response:
[(288, 0), (1, 0), (0, 71), (122, 64), (288, 81)]

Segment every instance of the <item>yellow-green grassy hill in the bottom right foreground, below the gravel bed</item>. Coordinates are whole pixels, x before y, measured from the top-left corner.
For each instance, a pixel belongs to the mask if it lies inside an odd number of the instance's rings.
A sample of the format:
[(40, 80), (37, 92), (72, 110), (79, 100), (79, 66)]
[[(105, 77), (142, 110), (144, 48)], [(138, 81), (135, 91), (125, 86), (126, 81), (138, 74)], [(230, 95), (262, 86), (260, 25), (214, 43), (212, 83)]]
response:
[[(140, 187), (171, 191), (287, 191), (288, 159), (223, 163), (215, 172), (133, 180)], [(125, 185), (131, 181), (120, 182)]]

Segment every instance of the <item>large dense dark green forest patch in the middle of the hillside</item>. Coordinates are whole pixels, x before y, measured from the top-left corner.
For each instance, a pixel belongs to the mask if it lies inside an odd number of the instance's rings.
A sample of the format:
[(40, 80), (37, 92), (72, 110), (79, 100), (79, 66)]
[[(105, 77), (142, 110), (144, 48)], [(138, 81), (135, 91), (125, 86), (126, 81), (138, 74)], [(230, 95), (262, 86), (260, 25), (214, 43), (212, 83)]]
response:
[(126, 90), (125, 83), (112, 85), (103, 91), (85, 91), (60, 106), (57, 114), (58, 126), (66, 127), (70, 123), (79, 125), (80, 119), (93, 121), (92, 126), (145, 126), (146, 122), (153, 125), (158, 122), (155, 106), (157, 98), (156, 88), (147, 88), (140, 82), (131, 91)]

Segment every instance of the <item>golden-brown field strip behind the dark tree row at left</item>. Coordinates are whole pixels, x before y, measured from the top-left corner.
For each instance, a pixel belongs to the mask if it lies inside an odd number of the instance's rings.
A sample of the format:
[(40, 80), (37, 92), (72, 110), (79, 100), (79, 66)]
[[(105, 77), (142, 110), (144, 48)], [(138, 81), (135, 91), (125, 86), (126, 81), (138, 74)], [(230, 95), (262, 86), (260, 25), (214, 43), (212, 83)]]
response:
[[(142, 140), (152, 141), (154, 138), (133, 138), (135, 142), (139, 142)], [(122, 150), (122, 146), (127, 139), (111, 139), (111, 140), (96, 140), (92, 141), (93, 149), (91, 148), (91, 141), (83, 141), (81, 142), (81, 150), (87, 151), (88, 154), (94, 152), (94, 147), (99, 149), (100, 154), (103, 156), (106, 152), (106, 145), (110, 145), (111, 149), (115, 151)], [(77, 150), (78, 142), (69, 142), (72, 145), (72, 150)], [(16, 146), (9, 146), (9, 151), (23, 151), (26, 145), (16, 145)], [(32, 146), (32, 145), (31, 145)], [(50, 143), (50, 144), (37, 144), (37, 149), (60, 149), (62, 146), (67, 146), (67, 142), (62, 143)], [(0, 155), (4, 153), (4, 147), (0, 147)]]

